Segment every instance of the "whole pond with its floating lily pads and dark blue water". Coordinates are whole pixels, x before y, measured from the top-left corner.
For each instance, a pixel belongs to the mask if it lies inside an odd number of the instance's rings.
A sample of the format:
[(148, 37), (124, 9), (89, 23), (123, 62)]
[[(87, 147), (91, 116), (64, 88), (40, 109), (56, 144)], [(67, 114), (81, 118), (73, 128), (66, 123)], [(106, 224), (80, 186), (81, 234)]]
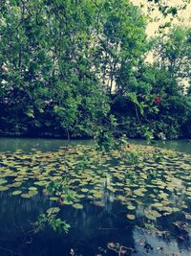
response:
[(0, 255), (191, 255), (190, 148), (0, 139)]

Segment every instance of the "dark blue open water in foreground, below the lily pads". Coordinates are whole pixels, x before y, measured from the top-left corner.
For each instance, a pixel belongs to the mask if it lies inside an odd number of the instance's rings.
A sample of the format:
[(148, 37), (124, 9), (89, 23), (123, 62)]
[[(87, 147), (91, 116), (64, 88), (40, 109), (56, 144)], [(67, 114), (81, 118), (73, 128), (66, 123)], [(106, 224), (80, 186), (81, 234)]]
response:
[[(1, 198), (0, 255), (65, 256), (74, 248), (77, 255), (97, 255), (107, 249), (109, 242), (116, 242), (138, 251), (133, 255), (191, 255), (189, 243), (176, 238), (162, 238), (158, 234), (137, 229), (128, 222), (117, 204), (99, 208), (86, 205), (83, 211), (65, 209), (63, 217), (72, 223), (68, 235), (59, 235), (46, 229), (36, 235), (25, 234), (29, 223), (47, 206), (43, 198), (27, 201)], [(146, 244), (152, 247), (145, 249)], [(99, 248), (101, 247), (101, 248)], [(160, 249), (162, 248), (162, 249)], [(147, 253), (146, 253), (147, 252)], [(105, 255), (105, 254), (102, 254)], [(108, 250), (107, 255), (117, 255)], [(122, 254), (121, 254), (122, 255)]]

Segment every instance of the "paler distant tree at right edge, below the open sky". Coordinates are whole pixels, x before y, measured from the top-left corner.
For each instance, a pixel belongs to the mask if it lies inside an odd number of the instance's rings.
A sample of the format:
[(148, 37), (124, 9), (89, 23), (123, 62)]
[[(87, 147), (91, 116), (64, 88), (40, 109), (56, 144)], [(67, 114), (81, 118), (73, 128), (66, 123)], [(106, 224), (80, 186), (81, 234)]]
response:
[(155, 47), (155, 61), (178, 81), (190, 78), (191, 30), (174, 27), (161, 35)]

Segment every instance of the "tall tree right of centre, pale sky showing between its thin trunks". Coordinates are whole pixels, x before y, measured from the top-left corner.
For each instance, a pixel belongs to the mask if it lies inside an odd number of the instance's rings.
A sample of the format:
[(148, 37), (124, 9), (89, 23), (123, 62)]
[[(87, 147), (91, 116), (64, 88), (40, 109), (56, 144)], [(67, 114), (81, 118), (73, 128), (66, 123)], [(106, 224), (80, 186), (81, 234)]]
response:
[(110, 94), (123, 94), (147, 50), (146, 19), (126, 0), (103, 1), (99, 10), (96, 72)]

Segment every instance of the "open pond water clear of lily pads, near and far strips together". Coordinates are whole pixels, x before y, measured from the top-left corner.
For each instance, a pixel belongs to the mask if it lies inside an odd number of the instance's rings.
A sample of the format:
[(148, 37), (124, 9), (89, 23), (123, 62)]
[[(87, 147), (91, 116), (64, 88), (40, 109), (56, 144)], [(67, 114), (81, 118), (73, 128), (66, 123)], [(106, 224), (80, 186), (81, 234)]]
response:
[[(91, 141), (74, 141), (72, 144), (92, 144)], [(138, 143), (138, 142), (134, 142)], [(142, 143), (142, 142), (141, 142)], [(21, 149), (29, 152), (33, 148), (41, 151), (55, 151), (68, 144), (61, 140), (44, 139), (0, 139), (0, 151)], [(191, 152), (186, 141), (170, 142), (167, 149)], [(75, 255), (191, 255), (190, 232), (176, 229), (168, 218), (159, 223), (161, 230), (171, 231), (167, 236), (159, 230), (145, 230), (135, 222), (128, 221), (125, 209), (111, 198), (105, 207), (85, 203), (83, 210), (66, 206), (61, 212), (64, 220), (71, 223), (68, 235), (60, 235), (47, 227), (37, 234), (29, 235), (32, 222), (53, 206), (42, 193), (31, 199), (11, 197), (10, 192), (0, 192), (0, 256), (67, 256)], [(182, 221), (178, 215), (171, 217)], [(172, 235), (174, 234), (174, 235)], [(131, 248), (132, 254), (117, 253), (108, 249), (108, 243), (118, 243)], [(132, 250), (133, 249), (133, 250)]]

